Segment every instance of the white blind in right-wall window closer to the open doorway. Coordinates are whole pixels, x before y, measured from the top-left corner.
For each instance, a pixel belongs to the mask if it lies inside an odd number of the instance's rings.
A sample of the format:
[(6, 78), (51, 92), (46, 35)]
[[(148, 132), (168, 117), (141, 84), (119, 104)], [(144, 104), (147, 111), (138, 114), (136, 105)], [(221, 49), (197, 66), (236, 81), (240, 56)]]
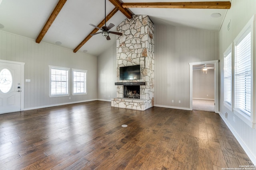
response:
[(231, 51), (224, 57), (224, 102), (232, 103), (232, 55)]

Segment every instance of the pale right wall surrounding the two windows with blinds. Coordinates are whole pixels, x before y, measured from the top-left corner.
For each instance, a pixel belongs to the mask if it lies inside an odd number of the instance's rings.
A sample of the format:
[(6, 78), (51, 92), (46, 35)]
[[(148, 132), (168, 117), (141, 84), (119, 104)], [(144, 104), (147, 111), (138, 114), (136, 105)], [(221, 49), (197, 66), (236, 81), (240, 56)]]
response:
[[(236, 136), (236, 139), (238, 139), (239, 143), (242, 145), (248, 156), (251, 158), (252, 162), (256, 164), (256, 129), (249, 127), (246, 123), (244, 123), (244, 121), (239, 119), (239, 117), (237, 117), (233, 111), (227, 109), (223, 104), (223, 53), (232, 43), (232, 41), (234, 41), (238, 33), (240, 33), (242, 28), (250, 20), (253, 14), (256, 14), (255, 0), (232, 0), (231, 8), (228, 10), (220, 29), (220, 115), (229, 126), (232, 133)], [(229, 21), (231, 21), (231, 25), (229, 31), (227, 31), (227, 25)], [(255, 83), (255, 80), (253, 80), (253, 82)], [(227, 119), (224, 115), (225, 112), (228, 113)], [(233, 121), (233, 117), (235, 118), (235, 121)]]

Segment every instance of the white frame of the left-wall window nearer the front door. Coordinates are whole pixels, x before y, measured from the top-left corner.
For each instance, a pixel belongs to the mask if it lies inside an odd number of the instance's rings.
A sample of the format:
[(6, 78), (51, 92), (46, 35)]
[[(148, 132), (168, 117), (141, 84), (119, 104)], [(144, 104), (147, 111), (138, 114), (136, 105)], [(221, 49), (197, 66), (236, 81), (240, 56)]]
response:
[[(52, 69), (57, 69), (57, 70), (66, 70), (67, 71), (67, 87), (66, 87), (66, 94), (52, 94)], [(54, 97), (62, 97), (62, 96), (70, 96), (69, 93), (69, 79), (70, 79), (70, 68), (66, 67), (60, 67), (60, 66), (51, 66), (49, 65), (49, 97), (54, 98)]]

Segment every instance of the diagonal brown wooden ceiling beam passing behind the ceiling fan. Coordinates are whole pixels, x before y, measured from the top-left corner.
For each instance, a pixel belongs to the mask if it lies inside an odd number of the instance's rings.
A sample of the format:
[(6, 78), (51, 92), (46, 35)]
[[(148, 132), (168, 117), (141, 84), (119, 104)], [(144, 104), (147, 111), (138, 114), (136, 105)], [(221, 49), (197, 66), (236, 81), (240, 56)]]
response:
[[(106, 16), (106, 22), (112, 17), (114, 16), (114, 14), (116, 14), (116, 12), (118, 12), (118, 8), (114, 8), (107, 16)], [(98, 27), (102, 27), (105, 24), (105, 18), (97, 25)], [(74, 49), (74, 53), (76, 53), (91, 37), (93, 33), (96, 33), (99, 29), (94, 28), (92, 30), (92, 32), (89, 33), (89, 35), (87, 35), (87, 37), (85, 37), (85, 39)]]

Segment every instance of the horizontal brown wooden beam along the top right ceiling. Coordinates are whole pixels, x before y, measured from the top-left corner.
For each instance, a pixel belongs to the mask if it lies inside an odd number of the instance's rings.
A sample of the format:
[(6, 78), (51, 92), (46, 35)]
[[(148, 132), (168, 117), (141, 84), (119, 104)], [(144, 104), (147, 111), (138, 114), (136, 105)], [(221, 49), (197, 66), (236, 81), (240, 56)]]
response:
[[(115, 1), (116, 0), (109, 0)], [(112, 3), (113, 4), (113, 3)], [(115, 4), (114, 4), (115, 5)], [(184, 8), (184, 9), (230, 9), (229, 1), (217, 2), (141, 2), (121, 3), (123, 8)]]

